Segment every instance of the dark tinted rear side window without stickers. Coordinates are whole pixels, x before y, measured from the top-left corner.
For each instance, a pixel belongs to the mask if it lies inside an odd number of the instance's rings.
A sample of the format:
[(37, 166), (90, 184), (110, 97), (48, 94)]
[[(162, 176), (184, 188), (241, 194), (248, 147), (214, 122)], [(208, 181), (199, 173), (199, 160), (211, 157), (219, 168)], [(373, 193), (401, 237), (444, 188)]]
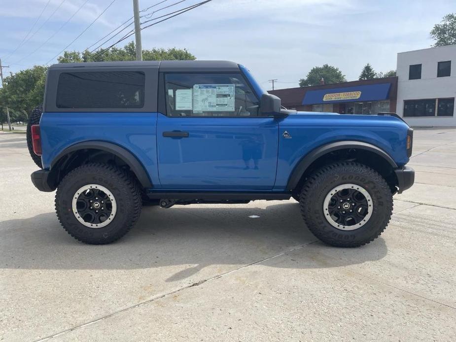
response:
[(63, 72), (57, 85), (58, 108), (142, 108), (144, 72)]

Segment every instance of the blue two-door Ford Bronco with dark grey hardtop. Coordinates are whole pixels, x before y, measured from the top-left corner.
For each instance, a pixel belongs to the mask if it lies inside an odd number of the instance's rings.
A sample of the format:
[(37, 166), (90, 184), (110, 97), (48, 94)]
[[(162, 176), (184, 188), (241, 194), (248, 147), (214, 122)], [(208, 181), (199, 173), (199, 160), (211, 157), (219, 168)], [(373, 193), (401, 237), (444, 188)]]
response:
[(293, 198), (318, 239), (360, 246), (415, 174), (413, 130), (395, 114), (286, 110), (225, 61), (54, 65), (28, 137), (35, 187), (57, 189), (62, 226), (92, 244), (124, 236), (143, 203)]

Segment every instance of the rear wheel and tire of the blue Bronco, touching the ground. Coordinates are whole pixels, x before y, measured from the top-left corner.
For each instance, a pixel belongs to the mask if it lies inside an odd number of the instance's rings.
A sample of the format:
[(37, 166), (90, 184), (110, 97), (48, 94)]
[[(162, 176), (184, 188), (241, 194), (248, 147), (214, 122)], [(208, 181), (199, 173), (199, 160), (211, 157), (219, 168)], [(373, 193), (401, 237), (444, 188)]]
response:
[(57, 187), (57, 217), (75, 239), (105, 244), (123, 237), (141, 212), (141, 194), (128, 173), (106, 164), (70, 171)]

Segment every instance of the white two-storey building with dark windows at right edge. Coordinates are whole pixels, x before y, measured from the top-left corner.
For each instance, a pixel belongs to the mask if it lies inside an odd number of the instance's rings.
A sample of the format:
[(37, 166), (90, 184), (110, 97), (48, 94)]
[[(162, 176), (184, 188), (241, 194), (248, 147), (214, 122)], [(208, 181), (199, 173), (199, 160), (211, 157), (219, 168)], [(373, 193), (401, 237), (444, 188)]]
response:
[(415, 127), (456, 127), (456, 45), (397, 54), (396, 113)]

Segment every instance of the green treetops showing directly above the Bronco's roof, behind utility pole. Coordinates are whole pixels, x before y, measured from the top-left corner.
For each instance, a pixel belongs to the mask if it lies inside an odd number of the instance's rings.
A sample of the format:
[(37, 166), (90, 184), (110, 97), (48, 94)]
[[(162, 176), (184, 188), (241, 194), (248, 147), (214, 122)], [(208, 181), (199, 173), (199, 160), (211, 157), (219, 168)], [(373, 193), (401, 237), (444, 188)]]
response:
[[(188, 52), (187, 49), (173, 47), (170, 49), (143, 49), (142, 59), (144, 61), (195, 60), (196, 57)], [(131, 41), (124, 47), (112, 47), (106, 51), (103, 49), (94, 52), (89, 50), (83, 52), (65, 51), (57, 60), (59, 63), (134, 61), (136, 60), (135, 43)]]

